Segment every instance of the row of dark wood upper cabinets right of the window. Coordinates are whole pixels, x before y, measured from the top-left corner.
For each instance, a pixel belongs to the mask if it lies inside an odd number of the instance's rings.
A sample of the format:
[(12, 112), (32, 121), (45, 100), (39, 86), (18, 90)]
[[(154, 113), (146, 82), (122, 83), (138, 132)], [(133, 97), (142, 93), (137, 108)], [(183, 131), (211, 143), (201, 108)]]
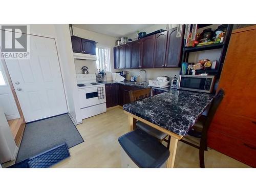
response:
[(115, 69), (180, 67), (183, 31), (178, 38), (173, 28), (115, 47)]

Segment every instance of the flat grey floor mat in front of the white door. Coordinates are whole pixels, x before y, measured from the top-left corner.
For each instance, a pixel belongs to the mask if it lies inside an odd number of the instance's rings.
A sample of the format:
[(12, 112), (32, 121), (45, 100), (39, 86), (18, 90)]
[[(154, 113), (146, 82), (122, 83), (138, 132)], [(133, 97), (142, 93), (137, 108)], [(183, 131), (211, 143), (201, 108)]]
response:
[(67, 143), (68, 148), (83, 142), (68, 114), (27, 123), (16, 163)]

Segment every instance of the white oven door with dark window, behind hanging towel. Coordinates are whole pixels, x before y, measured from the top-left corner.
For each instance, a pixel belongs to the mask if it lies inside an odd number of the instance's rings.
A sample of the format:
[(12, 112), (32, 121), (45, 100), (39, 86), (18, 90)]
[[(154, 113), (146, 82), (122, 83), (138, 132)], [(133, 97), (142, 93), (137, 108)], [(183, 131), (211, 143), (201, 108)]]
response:
[(104, 99), (98, 98), (98, 87), (78, 90), (80, 109), (106, 102), (105, 86), (103, 87)]

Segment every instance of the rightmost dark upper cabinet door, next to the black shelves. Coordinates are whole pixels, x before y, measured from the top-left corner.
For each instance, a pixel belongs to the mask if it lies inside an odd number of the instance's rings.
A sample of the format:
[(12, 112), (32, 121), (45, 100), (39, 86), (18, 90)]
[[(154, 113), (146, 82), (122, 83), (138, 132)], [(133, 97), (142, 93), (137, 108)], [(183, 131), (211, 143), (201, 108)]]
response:
[[(183, 35), (177, 38), (177, 28), (168, 31), (168, 40), (165, 56), (165, 67), (179, 67), (183, 45)], [(183, 30), (182, 30), (183, 34)]]

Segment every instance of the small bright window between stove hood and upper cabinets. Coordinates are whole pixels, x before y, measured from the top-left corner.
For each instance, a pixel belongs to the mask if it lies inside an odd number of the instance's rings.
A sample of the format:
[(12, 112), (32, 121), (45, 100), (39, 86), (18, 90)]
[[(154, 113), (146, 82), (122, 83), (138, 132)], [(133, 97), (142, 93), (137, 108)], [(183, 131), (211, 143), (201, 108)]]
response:
[(105, 46), (96, 46), (96, 56), (97, 56), (97, 69), (100, 71), (111, 72), (110, 70), (110, 48)]

